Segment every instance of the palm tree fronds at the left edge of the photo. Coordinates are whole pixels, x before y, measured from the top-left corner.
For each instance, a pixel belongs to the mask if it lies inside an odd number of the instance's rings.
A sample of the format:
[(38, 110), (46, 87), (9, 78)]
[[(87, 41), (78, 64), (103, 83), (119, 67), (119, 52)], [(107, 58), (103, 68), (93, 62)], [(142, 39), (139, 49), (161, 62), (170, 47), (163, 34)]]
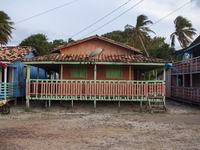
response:
[(3, 11), (0, 11), (0, 43), (2, 45), (6, 45), (10, 38), (12, 38), (11, 33), (13, 28), (11, 25), (14, 23), (9, 21), (10, 17), (4, 13)]

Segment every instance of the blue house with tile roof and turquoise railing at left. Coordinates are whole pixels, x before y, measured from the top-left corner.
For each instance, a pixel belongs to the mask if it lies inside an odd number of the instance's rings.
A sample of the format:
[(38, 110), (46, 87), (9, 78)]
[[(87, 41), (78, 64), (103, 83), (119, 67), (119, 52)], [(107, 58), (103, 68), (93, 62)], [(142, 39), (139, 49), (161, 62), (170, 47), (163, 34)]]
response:
[[(30, 46), (0, 47), (0, 99), (25, 97), (27, 65), (22, 64), (21, 59), (35, 56), (39, 55)], [(33, 79), (46, 77), (43, 69), (39, 74), (36, 67), (31, 66), (30, 70)]]

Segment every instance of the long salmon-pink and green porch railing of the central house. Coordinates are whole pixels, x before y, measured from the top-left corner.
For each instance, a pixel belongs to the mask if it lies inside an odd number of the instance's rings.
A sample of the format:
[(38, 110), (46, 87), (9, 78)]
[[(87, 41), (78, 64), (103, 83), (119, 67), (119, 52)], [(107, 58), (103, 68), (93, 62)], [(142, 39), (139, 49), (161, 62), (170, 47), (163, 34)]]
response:
[(145, 99), (148, 95), (165, 95), (163, 81), (42, 80), (26, 82), (28, 99), (114, 100)]

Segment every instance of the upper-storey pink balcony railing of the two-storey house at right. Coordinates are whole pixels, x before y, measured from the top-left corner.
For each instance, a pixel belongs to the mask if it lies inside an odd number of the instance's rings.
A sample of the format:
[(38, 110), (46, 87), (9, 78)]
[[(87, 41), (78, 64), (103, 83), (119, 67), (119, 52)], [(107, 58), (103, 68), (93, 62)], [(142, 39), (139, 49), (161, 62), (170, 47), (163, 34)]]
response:
[[(179, 72), (193, 72), (200, 70), (200, 57), (195, 57), (189, 60), (179, 61), (173, 63), (173, 67), (176, 68)], [(172, 69), (172, 73), (177, 71)]]

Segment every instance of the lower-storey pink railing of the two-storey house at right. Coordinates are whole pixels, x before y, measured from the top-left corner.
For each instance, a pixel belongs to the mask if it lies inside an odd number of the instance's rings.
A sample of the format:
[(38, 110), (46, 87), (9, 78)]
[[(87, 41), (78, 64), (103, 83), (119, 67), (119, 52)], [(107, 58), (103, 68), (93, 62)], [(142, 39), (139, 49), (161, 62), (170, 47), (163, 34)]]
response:
[(172, 86), (171, 97), (200, 103), (200, 88)]

